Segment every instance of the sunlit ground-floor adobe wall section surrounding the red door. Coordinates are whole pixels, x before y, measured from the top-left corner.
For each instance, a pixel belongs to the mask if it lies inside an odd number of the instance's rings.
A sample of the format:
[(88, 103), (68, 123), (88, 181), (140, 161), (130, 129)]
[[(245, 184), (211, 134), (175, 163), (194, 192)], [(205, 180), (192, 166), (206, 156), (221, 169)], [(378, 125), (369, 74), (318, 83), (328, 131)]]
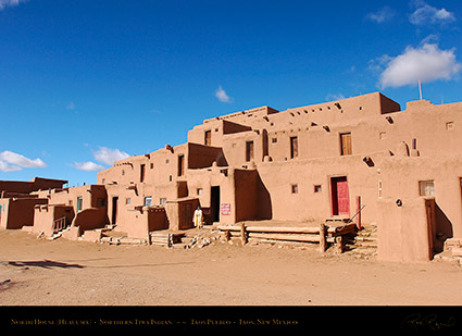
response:
[[(378, 198), (377, 166), (388, 153), (374, 153), (376, 165), (369, 166), (363, 155), (267, 162), (258, 165), (261, 179), (259, 213), (279, 221), (325, 221), (332, 217), (330, 178), (347, 176), (350, 215), (355, 213), (355, 197), (365, 204), (364, 223), (375, 222)], [(292, 192), (297, 185), (297, 192)], [(314, 186), (320, 186), (316, 192)], [(271, 212), (271, 213), (270, 213)]]

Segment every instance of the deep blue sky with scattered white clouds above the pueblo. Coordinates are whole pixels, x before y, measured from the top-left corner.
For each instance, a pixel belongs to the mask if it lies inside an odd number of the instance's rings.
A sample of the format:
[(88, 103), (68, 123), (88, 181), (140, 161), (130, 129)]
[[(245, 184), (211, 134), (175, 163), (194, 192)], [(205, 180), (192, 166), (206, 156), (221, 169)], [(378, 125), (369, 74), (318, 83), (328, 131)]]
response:
[(0, 0), (0, 179), (96, 183), (203, 119), (462, 101), (462, 1)]

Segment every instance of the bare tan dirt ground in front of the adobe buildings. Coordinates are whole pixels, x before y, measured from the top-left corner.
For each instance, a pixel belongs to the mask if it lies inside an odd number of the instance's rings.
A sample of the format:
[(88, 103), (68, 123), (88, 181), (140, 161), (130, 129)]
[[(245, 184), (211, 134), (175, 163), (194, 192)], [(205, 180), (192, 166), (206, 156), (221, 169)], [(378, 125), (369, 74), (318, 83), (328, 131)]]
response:
[(1, 306), (459, 306), (462, 269), (214, 241), (202, 249), (0, 231)]

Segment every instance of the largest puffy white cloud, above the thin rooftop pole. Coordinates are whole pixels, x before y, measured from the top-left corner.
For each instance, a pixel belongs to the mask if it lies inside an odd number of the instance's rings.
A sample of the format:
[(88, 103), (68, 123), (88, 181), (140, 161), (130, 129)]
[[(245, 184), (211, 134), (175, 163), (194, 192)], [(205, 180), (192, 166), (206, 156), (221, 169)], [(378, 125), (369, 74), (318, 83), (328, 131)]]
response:
[(388, 60), (380, 74), (382, 88), (415, 85), (419, 79), (423, 83), (449, 80), (462, 69), (462, 64), (455, 60), (454, 49), (440, 50), (436, 43), (424, 43), (420, 48), (408, 47), (396, 58), (382, 59)]

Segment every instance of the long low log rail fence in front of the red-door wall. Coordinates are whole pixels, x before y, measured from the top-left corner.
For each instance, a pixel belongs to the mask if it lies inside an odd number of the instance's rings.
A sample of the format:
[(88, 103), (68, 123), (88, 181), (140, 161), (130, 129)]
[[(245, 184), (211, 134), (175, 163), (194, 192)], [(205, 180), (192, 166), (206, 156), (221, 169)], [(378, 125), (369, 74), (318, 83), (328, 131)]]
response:
[(345, 250), (346, 235), (354, 234), (357, 225), (354, 223), (341, 226), (328, 226), (324, 223), (320, 226), (308, 227), (275, 227), (275, 226), (246, 226), (227, 225), (218, 226), (218, 231), (224, 235), (225, 240), (232, 237), (240, 238), (242, 245), (247, 242), (291, 242), (307, 244), (314, 242), (320, 245), (320, 251), (325, 252), (328, 244), (335, 244), (338, 252)]

